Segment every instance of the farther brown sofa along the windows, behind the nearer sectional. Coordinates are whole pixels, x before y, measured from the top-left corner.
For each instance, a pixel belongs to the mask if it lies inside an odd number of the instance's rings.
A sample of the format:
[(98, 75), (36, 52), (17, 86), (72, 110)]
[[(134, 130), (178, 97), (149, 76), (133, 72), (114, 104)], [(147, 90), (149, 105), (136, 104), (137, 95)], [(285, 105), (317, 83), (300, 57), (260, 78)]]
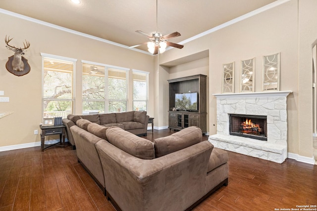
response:
[(109, 114), (92, 114), (92, 115), (68, 115), (62, 122), (66, 126), (68, 142), (75, 147), (75, 141), (70, 127), (76, 125), (77, 120), (85, 119), (92, 123), (104, 127), (116, 126), (124, 130), (127, 130), (138, 136), (146, 136), (149, 122), (149, 116), (146, 111), (129, 111), (121, 113), (109, 113)]

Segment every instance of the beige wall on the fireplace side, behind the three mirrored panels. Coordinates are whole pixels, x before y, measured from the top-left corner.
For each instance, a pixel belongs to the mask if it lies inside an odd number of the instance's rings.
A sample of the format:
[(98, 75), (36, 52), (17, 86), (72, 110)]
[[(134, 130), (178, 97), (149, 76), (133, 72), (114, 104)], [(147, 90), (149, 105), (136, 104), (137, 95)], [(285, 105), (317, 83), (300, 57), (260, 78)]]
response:
[[(216, 125), (216, 99), (212, 94), (221, 93), (222, 64), (235, 62), (235, 92), (239, 92), (240, 62), (255, 58), (255, 91), (262, 91), (263, 56), (280, 53), (280, 90), (293, 91), (287, 100), (288, 152), (313, 157), (312, 44), (317, 40), (315, 8), (316, 0), (290, 0), (188, 42), (181, 51), (173, 49), (162, 54), (161, 63), (164, 64), (209, 50), (209, 134), (216, 133), (216, 126), (213, 126)], [(170, 68), (170, 78), (180, 75), (176, 71), (178, 67)]]

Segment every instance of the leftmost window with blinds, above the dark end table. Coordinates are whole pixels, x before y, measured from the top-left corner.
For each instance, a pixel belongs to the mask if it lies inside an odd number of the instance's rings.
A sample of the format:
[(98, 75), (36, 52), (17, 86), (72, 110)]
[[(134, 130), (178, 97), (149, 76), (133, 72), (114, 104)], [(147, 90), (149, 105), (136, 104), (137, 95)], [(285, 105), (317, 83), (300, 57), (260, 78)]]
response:
[(62, 117), (75, 113), (76, 59), (41, 53), (42, 116)]

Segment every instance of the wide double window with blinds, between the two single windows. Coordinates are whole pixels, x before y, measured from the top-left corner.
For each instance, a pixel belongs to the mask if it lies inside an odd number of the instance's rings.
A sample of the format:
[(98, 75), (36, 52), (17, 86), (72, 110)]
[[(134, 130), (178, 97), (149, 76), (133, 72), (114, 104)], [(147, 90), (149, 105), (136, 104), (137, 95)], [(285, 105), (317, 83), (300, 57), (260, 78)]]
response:
[(127, 111), (126, 68), (83, 62), (83, 114)]

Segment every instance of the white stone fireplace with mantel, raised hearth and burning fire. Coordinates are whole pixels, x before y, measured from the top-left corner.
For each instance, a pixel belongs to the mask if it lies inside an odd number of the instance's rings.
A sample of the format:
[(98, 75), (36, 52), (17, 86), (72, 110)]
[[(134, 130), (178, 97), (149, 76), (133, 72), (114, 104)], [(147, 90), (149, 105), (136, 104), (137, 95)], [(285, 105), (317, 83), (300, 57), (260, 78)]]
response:
[(292, 91), (214, 94), (214, 147), (282, 163), (287, 158), (287, 95)]

